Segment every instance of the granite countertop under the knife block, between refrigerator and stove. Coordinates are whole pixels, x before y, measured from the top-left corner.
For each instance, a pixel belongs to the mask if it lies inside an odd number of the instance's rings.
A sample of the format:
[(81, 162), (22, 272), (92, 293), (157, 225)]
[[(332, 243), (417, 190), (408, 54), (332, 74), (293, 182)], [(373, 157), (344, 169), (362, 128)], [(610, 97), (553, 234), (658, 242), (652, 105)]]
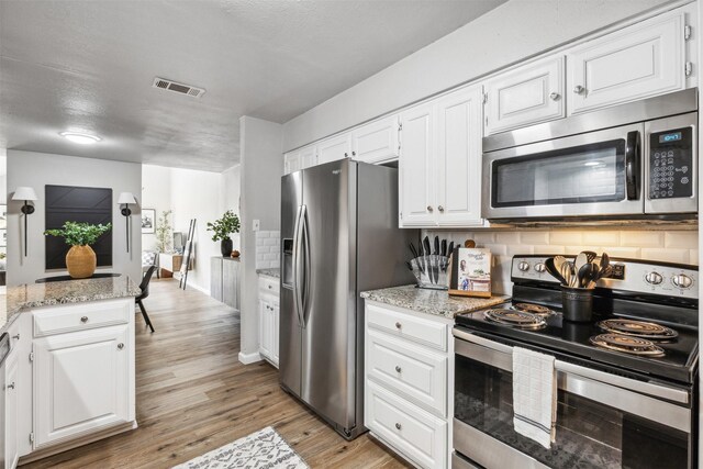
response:
[(510, 297), (449, 297), (446, 290), (426, 290), (414, 284), (361, 292), (361, 298), (453, 320), (457, 314), (503, 303)]

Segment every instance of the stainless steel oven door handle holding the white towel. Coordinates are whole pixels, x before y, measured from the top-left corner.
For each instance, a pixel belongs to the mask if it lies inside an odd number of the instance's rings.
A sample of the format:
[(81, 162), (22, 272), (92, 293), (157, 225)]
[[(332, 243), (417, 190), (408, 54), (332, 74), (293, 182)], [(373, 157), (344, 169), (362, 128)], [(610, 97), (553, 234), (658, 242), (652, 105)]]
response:
[[(513, 347), (510, 345), (493, 342), (457, 328), (453, 330), (453, 334), (456, 337), (454, 350), (457, 355), (491, 365), (505, 371), (513, 371)], [(691, 402), (690, 394), (681, 389), (669, 388), (647, 381), (637, 381), (561, 360), (555, 361), (555, 368), (559, 375), (585, 378), (602, 383), (603, 386), (621, 388), (624, 391), (633, 392), (637, 395), (652, 395), (687, 405)]]

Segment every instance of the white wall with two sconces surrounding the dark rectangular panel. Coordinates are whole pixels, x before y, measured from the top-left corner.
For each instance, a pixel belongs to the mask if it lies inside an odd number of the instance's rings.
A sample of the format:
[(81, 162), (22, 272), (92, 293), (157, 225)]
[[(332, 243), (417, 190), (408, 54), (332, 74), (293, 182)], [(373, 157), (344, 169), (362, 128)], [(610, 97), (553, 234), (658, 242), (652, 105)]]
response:
[[(142, 167), (134, 163), (111, 161), (75, 156), (53, 155), (34, 152), (8, 150), (8, 198), (14, 189), (29, 186), (34, 189), (38, 200), (34, 202), (35, 212), (29, 221), (29, 256), (24, 257), (23, 236), (24, 216), (20, 213), (21, 201), (8, 204), (8, 284), (34, 283), (46, 277), (44, 260), (44, 187), (46, 185), (83, 186), (112, 189), (112, 267), (99, 270), (129, 275), (137, 283), (142, 271), (142, 237), (138, 213), (132, 214), (130, 253), (126, 252), (124, 224), (126, 220), (116, 204), (120, 192), (137, 196), (142, 190)], [(52, 275), (56, 273), (52, 270)]]

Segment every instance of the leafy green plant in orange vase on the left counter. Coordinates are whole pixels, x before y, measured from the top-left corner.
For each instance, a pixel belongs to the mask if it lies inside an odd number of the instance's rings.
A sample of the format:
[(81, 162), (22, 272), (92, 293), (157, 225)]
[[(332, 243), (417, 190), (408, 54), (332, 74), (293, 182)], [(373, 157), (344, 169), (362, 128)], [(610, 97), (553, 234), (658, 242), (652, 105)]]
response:
[(90, 245), (96, 244), (98, 238), (111, 228), (111, 223), (93, 225), (66, 222), (60, 230), (46, 230), (44, 235), (63, 237), (66, 244), (71, 246), (66, 254), (68, 275), (75, 279), (85, 279), (92, 276), (98, 266), (96, 252)]

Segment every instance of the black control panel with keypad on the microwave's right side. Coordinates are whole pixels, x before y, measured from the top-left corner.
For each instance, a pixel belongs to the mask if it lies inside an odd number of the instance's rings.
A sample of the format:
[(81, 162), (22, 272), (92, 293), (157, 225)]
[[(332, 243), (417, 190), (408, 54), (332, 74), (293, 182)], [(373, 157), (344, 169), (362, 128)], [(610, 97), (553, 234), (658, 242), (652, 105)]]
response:
[(649, 135), (649, 199), (693, 196), (693, 129)]

